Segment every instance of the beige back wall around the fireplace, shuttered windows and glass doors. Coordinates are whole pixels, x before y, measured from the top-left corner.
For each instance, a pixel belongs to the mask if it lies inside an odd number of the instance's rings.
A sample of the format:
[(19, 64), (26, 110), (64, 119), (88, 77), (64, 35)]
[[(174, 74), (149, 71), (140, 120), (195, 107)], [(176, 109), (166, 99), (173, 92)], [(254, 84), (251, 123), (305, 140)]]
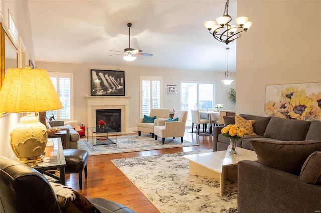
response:
[[(130, 62), (128, 62), (130, 63)], [(154, 69), (130, 66), (101, 66), (90, 64), (66, 64), (36, 62), (37, 68), (46, 69), (49, 72), (72, 72), (74, 76), (74, 120), (87, 124), (87, 100), (90, 96), (90, 69), (122, 70), (125, 71), (125, 94), (131, 97), (129, 105), (129, 128), (136, 129), (136, 121), (139, 120), (139, 76), (162, 76), (163, 77), (163, 108), (180, 109), (180, 81), (212, 81), (216, 83), (215, 103), (224, 104), (225, 109), (234, 109), (227, 97), (230, 88), (235, 88), (235, 82), (224, 85), (221, 80), (225, 78), (224, 72), (201, 72), (173, 69)], [(176, 85), (177, 93), (166, 93), (167, 85)]]

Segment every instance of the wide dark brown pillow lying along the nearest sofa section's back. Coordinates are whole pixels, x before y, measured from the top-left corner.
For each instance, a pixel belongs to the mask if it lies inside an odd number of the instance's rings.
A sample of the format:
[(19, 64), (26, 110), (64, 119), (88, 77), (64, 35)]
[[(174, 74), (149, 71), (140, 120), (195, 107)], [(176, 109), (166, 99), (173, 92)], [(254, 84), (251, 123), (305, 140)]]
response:
[(321, 141), (250, 141), (258, 162), (288, 173), (300, 175), (307, 157), (314, 151), (321, 150)]

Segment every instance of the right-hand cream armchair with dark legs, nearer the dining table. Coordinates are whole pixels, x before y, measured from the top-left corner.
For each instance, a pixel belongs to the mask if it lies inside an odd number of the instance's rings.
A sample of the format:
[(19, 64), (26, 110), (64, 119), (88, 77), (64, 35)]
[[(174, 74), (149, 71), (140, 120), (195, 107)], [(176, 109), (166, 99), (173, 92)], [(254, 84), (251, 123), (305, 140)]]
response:
[(158, 126), (154, 127), (155, 140), (161, 137), (164, 144), (167, 137), (181, 137), (181, 142), (183, 142), (187, 111), (177, 110), (173, 116), (173, 119), (176, 118), (178, 118), (178, 121), (158, 121)]

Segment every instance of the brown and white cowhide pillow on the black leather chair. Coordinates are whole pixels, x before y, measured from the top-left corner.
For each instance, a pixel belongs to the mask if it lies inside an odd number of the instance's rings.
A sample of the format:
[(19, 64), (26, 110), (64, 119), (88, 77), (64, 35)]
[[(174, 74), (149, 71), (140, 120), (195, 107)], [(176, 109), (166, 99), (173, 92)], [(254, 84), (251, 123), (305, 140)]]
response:
[(100, 212), (96, 206), (78, 191), (54, 182), (49, 183), (54, 189), (59, 207), (63, 212)]

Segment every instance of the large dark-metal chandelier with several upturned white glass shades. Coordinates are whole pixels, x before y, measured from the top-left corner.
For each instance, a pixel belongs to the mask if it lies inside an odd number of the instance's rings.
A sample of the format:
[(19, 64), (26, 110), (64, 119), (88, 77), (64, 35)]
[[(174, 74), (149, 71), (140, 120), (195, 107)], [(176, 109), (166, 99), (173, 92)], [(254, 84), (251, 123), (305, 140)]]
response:
[(231, 20), (232, 17), (229, 15), (229, 0), (226, 0), (223, 16), (216, 18), (218, 25), (215, 25), (214, 21), (205, 21), (204, 26), (216, 40), (227, 45), (241, 37), (241, 32), (246, 32), (252, 26), (252, 22), (248, 21), (248, 17), (237, 17), (235, 19), (237, 25), (230, 25)]

